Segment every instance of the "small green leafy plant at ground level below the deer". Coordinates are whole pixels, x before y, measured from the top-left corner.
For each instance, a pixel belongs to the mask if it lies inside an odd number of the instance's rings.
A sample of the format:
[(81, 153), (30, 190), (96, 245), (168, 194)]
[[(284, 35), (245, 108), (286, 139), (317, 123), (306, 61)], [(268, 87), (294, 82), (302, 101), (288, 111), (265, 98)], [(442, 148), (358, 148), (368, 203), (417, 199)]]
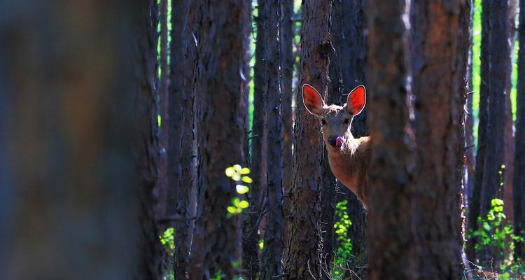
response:
[(337, 249), (334, 255), (334, 268), (332, 269), (333, 279), (343, 279), (346, 271), (346, 263), (352, 255), (352, 243), (348, 237), (348, 232), (352, 222), (346, 213), (348, 201), (342, 200), (335, 205), (335, 238), (337, 239)]

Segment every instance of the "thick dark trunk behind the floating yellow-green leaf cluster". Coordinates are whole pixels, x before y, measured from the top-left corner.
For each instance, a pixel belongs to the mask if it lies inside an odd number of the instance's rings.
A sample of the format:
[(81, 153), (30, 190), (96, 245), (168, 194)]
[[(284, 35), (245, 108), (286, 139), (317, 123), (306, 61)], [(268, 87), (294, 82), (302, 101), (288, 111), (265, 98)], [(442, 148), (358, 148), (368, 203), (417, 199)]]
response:
[[(199, 1), (202, 16), (197, 36), (197, 144), (200, 162), (198, 206), (190, 260), (190, 275), (203, 279), (237, 275), (241, 261), (240, 216), (227, 217), (226, 208), (237, 196), (235, 181), (225, 169), (244, 162), (242, 90), (248, 8), (245, 1)], [(221, 28), (215, 28), (221, 27)], [(233, 263), (233, 264), (232, 264)]]

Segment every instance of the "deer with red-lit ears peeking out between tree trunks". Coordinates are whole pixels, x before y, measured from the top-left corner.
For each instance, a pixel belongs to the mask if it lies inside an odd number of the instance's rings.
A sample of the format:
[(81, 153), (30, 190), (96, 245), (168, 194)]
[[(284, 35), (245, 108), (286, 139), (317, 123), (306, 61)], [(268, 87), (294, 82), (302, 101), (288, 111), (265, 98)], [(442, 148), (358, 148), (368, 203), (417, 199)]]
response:
[(350, 132), (354, 116), (366, 104), (364, 85), (351, 90), (346, 104), (326, 105), (321, 94), (311, 85), (302, 86), (302, 102), (311, 115), (321, 122), (321, 134), (328, 151), (328, 164), (337, 181), (356, 195), (367, 209), (370, 137), (353, 138)]

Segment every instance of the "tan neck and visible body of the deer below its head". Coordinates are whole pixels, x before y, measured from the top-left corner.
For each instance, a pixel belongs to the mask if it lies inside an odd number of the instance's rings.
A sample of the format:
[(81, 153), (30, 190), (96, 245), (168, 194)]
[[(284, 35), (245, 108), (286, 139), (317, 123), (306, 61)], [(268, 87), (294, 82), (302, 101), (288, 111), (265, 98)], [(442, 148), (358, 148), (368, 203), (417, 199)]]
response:
[(356, 195), (367, 209), (368, 165), (370, 163), (370, 137), (353, 138), (350, 128), (343, 135), (343, 145), (326, 145), (328, 163), (332, 173), (346, 188)]

